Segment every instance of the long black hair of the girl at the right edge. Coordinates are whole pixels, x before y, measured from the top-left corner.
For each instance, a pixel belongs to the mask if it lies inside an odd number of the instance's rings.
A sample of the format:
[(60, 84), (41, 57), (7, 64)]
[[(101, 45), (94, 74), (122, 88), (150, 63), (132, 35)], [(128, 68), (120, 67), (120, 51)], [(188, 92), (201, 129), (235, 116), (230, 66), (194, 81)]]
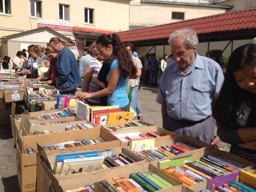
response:
[[(238, 117), (243, 103), (251, 103), (250, 115), (246, 126), (256, 126), (256, 94), (240, 88), (234, 78), (234, 72), (246, 66), (256, 67), (256, 44), (250, 43), (238, 47), (229, 57), (225, 79), (217, 98), (213, 103), (213, 117), (219, 125), (225, 127), (241, 127), (234, 119)], [(248, 74), (249, 75), (249, 74)]]

